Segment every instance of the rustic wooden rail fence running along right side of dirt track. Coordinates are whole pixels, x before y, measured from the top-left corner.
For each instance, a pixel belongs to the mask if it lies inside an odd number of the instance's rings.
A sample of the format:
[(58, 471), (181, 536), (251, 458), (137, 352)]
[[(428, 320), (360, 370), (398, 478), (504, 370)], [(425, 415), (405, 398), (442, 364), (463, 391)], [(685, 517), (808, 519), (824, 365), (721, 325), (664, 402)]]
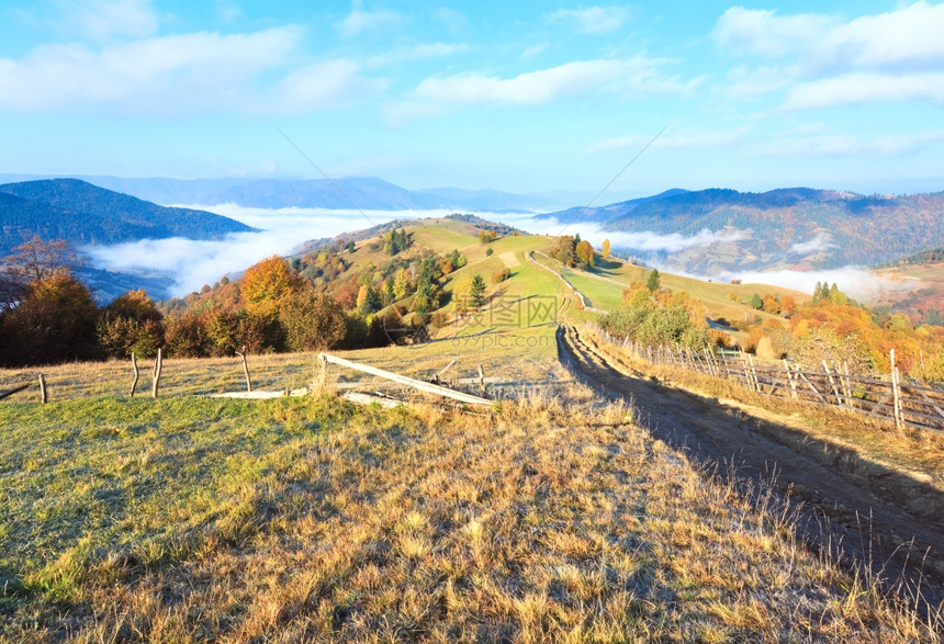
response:
[(760, 363), (738, 351), (643, 347), (629, 338), (613, 337), (595, 325), (588, 328), (610, 346), (651, 364), (734, 381), (762, 395), (887, 418), (899, 429), (908, 426), (944, 433), (944, 389), (902, 380), (895, 366), (895, 350), (891, 373), (885, 380), (853, 375), (846, 365), (838, 368), (825, 361), (822, 371), (810, 371), (786, 360)]

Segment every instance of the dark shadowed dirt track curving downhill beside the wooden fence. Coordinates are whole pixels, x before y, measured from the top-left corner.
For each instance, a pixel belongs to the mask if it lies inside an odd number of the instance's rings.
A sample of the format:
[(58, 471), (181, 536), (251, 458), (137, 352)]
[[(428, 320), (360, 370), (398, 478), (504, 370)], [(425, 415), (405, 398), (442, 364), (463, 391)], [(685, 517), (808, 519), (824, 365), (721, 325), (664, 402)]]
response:
[(869, 566), (889, 588), (920, 588), (931, 607), (944, 601), (944, 517), (910, 513), (884, 486), (863, 485), (843, 467), (794, 451), (790, 441), (772, 440), (795, 427), (620, 369), (573, 326), (558, 330), (558, 354), (602, 396), (631, 402), (640, 423), (689, 460), (742, 489), (773, 479), (782, 499), (801, 501), (797, 528), (808, 543), (833, 551), (841, 544), (847, 564)]

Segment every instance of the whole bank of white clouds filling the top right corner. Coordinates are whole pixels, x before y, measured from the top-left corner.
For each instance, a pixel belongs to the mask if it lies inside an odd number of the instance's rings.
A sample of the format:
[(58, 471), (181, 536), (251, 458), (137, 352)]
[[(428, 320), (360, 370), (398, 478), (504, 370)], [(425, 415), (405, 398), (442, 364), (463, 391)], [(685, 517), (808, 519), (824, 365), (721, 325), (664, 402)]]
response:
[[(787, 109), (875, 101), (944, 101), (944, 3), (846, 20), (733, 7), (715, 27), (722, 50), (773, 65), (729, 72), (728, 97), (789, 88)], [(799, 84), (795, 84), (799, 83)]]

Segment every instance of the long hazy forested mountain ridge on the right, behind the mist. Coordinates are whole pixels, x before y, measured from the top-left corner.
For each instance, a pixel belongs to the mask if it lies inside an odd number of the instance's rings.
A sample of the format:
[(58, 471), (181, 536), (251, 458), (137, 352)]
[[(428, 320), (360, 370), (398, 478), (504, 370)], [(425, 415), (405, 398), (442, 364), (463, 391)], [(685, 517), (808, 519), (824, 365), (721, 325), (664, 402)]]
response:
[(705, 275), (878, 264), (944, 242), (944, 192), (867, 196), (810, 188), (674, 190), (542, 217), (591, 222), (613, 233), (694, 238), (708, 230), (716, 234), (705, 236), (710, 244), (650, 253), (672, 270)]

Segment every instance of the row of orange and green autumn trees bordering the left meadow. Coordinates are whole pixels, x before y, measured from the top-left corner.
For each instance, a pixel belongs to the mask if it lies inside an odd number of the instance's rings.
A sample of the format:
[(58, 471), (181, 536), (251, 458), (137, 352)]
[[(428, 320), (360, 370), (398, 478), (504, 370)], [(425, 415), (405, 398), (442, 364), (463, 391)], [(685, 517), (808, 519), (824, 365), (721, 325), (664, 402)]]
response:
[[(409, 237), (397, 230), (381, 244), (396, 256), (409, 247)], [(464, 264), (458, 251), (394, 257), (379, 268), (368, 263), (345, 281), (350, 263), (341, 250), (356, 251), (348, 245), (301, 260), (273, 256), (239, 280), (223, 279), (171, 305), (135, 290), (100, 307), (76, 276), (79, 260), (68, 244), (34, 237), (0, 270), (0, 365), (123, 359), (132, 352), (147, 358), (158, 348), (168, 357), (199, 358), (243, 348), (259, 353), (384, 346), (395, 338), (391, 329), (429, 321), (440, 304), (440, 281)], [(330, 293), (328, 286), (336, 289)]]

